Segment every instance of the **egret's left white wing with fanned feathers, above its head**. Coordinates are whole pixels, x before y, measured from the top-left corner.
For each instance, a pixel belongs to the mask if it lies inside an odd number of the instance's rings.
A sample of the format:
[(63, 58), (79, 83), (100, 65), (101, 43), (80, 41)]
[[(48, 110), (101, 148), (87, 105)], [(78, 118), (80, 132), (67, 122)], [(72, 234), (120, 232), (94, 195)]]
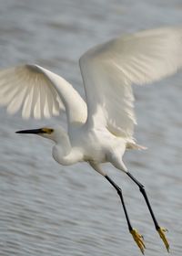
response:
[(66, 110), (70, 123), (86, 122), (86, 102), (63, 78), (37, 65), (0, 71), (0, 105), (7, 112), (22, 110), (25, 119), (49, 118)]

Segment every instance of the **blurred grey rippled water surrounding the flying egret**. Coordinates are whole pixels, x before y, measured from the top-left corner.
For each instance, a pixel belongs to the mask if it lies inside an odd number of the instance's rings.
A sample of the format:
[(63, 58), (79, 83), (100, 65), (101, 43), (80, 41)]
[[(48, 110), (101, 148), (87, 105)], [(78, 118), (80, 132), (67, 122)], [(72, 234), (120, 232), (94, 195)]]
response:
[[(136, 30), (182, 24), (181, 0), (1, 0), (0, 68), (36, 63), (70, 81), (85, 97), (78, 59), (86, 49)], [(136, 140), (128, 169), (147, 188), (171, 255), (182, 252), (182, 72), (147, 87), (134, 86)], [(0, 255), (141, 255), (127, 231), (119, 197), (86, 164), (63, 167), (52, 143), (16, 130), (64, 123), (66, 117), (22, 121), (0, 109)], [(123, 187), (146, 255), (167, 255), (138, 188), (110, 165)]]

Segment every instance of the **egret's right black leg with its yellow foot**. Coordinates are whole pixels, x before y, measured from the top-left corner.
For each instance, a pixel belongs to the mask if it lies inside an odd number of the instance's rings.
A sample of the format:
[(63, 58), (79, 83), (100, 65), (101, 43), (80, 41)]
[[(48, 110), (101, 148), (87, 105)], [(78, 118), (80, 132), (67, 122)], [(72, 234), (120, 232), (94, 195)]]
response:
[(164, 228), (161, 228), (159, 225), (158, 225), (158, 222), (157, 222), (157, 219), (154, 215), (154, 212), (150, 206), (150, 202), (148, 200), (148, 197), (147, 197), (147, 193), (146, 193), (146, 190), (145, 190), (145, 187), (139, 182), (136, 180), (136, 178), (134, 176), (132, 176), (129, 172), (126, 172), (127, 176), (129, 176), (135, 183), (136, 185), (139, 187), (139, 190), (140, 192), (142, 193), (143, 197), (145, 198), (146, 200), (146, 203), (147, 203), (147, 208), (149, 209), (149, 212), (151, 214), (151, 217), (154, 221), (154, 224), (155, 224), (155, 227), (157, 229), (157, 232), (160, 236), (160, 238), (164, 241), (165, 245), (166, 245), (166, 248), (167, 248), (167, 251), (169, 252), (169, 243), (167, 241), (167, 238), (166, 238), (166, 235), (165, 235), (165, 232), (167, 232), (167, 229), (164, 229)]

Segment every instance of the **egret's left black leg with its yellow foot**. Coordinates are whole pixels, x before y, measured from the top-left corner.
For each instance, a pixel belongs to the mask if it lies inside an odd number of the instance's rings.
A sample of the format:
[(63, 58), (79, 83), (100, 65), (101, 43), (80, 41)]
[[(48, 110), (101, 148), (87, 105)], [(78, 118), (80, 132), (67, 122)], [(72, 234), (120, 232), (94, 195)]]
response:
[(123, 206), (123, 209), (124, 209), (124, 212), (125, 212), (125, 216), (126, 216), (126, 222), (127, 222), (127, 226), (128, 226), (128, 229), (129, 229), (129, 232), (132, 234), (134, 240), (136, 241), (136, 244), (137, 246), (139, 247), (140, 251), (144, 254), (144, 250), (145, 250), (145, 244), (144, 244), (144, 239), (143, 239), (143, 236), (140, 235), (136, 229), (133, 229), (132, 226), (131, 226), (131, 222), (129, 220), (129, 217), (128, 217), (128, 214), (127, 214), (127, 211), (126, 211), (126, 205), (125, 205), (125, 201), (124, 201), (124, 198), (123, 198), (123, 195), (122, 195), (122, 190), (120, 187), (118, 187), (116, 185), (116, 183), (109, 177), (109, 176), (105, 176), (106, 179), (110, 182), (110, 184), (116, 188), (116, 192), (117, 194), (119, 195), (120, 199), (121, 199), (121, 203), (122, 203), (122, 206)]

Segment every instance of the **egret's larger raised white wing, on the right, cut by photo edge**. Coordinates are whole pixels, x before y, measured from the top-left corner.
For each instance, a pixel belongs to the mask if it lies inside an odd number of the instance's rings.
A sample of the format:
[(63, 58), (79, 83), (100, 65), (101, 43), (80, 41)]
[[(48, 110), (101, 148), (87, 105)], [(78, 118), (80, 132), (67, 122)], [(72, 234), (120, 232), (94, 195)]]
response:
[(160, 80), (182, 65), (182, 29), (142, 31), (88, 50), (80, 59), (87, 123), (132, 137), (136, 117), (132, 83)]

